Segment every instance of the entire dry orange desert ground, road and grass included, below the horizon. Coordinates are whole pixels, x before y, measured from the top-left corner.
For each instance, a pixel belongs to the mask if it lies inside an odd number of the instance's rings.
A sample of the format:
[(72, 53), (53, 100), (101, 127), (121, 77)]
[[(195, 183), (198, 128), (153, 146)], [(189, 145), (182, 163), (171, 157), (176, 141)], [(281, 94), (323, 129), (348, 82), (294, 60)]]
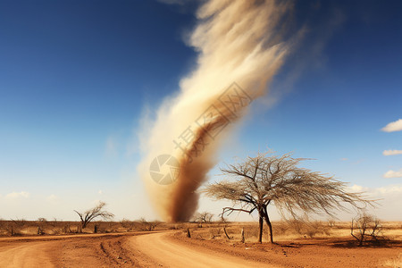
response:
[(349, 222), (274, 222), (273, 245), (266, 230), (264, 242), (256, 243), (255, 222), (159, 222), (151, 230), (136, 222), (97, 222), (82, 233), (74, 232), (79, 222), (41, 222), (38, 229), (39, 223), (14, 226), (13, 236), (2, 233), (0, 267), (402, 267), (402, 222), (383, 222), (383, 239), (362, 247)]

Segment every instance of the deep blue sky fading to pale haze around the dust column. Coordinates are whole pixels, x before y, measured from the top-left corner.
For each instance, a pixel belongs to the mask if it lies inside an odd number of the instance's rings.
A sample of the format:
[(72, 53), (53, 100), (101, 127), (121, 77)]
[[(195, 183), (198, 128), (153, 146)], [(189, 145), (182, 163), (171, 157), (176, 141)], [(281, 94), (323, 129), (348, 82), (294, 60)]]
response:
[[(196, 6), (0, 1), (0, 217), (75, 219), (73, 209), (100, 199), (117, 219), (155, 218), (136, 172), (137, 134), (145, 107), (175, 94), (195, 64), (183, 40)], [(402, 118), (401, 8), (296, 2), (292, 25), (306, 35), (264, 97), (275, 101), (255, 101), (222, 161), (294, 151), (384, 198), (382, 218), (402, 220), (391, 209), (402, 178), (383, 178), (401, 171), (402, 155), (382, 155), (402, 150), (402, 131), (381, 131)], [(200, 209), (219, 212), (211, 204)]]

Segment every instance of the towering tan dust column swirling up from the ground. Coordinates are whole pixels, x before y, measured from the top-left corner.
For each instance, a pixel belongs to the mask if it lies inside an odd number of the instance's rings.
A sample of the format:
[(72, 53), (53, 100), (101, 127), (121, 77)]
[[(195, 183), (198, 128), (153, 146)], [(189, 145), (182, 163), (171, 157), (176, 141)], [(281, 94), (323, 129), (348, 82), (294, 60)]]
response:
[[(155, 121), (144, 119), (140, 135), (144, 157), (138, 172), (163, 220), (188, 221), (197, 210), (197, 188), (207, 180), (222, 139), (233, 129), (224, 126), (247, 113), (247, 106), (230, 113), (217, 105), (217, 100), (233, 82), (252, 99), (266, 94), (294, 42), (284, 40), (290, 10), (288, 2), (242, 0), (207, 1), (198, 9), (199, 22), (188, 37), (188, 44), (198, 52), (197, 66), (180, 80), (177, 96), (164, 100)], [(207, 126), (223, 129), (214, 138), (207, 135), (203, 125), (194, 123), (211, 105), (219, 113), (209, 118)], [(173, 140), (189, 127), (195, 136), (181, 149)], [(199, 142), (206, 138), (208, 144), (200, 153)], [(150, 163), (163, 154), (173, 155), (180, 163), (179, 177), (170, 185), (156, 183), (149, 173)]]

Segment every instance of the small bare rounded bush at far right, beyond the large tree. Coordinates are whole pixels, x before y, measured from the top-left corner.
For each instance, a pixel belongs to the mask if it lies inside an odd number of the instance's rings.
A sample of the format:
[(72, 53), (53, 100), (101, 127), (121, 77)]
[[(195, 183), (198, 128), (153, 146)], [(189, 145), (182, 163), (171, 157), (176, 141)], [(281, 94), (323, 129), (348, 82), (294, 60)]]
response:
[(363, 242), (367, 239), (378, 242), (383, 238), (380, 220), (365, 212), (352, 219), (350, 234), (357, 240), (359, 246), (363, 246)]

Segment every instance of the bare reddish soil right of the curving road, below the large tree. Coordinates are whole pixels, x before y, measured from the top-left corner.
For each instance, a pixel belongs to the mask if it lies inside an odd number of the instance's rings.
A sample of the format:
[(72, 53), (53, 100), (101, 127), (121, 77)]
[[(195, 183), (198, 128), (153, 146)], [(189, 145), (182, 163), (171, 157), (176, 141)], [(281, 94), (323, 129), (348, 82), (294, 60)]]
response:
[(295, 239), (273, 245), (188, 239), (183, 234), (175, 234), (172, 239), (188, 247), (205, 247), (211, 252), (224, 252), (276, 267), (402, 267), (402, 241), (356, 247), (356, 242), (348, 238)]

